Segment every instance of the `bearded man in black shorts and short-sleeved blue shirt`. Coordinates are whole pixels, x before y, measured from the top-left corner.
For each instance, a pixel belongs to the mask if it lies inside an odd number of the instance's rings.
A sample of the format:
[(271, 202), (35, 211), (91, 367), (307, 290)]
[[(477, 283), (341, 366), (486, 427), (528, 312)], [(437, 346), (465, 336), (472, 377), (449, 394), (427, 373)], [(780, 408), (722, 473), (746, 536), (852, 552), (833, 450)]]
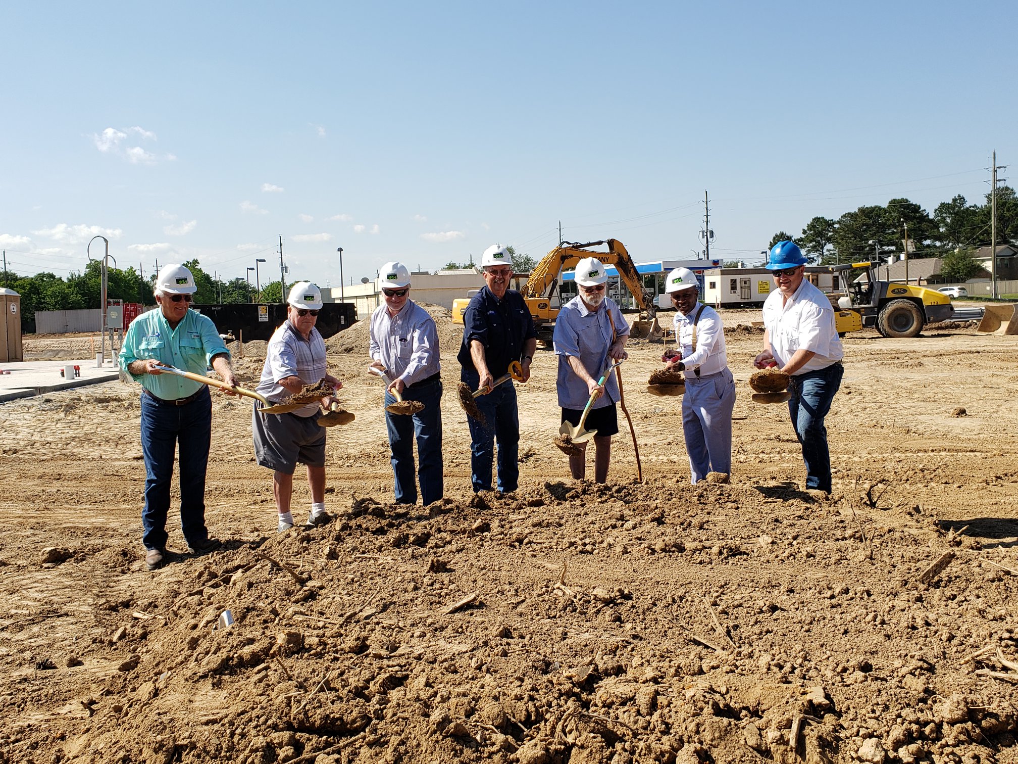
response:
[[(625, 350), (629, 324), (619, 307), (606, 296), (608, 274), (600, 260), (579, 261), (575, 279), (579, 295), (566, 303), (555, 319), (552, 339), (559, 357), (556, 387), (562, 421), (572, 425), (579, 424), (590, 395), (598, 395), (584, 429), (598, 431), (593, 436), (593, 479), (604, 483), (612, 459), (612, 436), (619, 431), (615, 405), (619, 383), (614, 374), (604, 385), (599, 385), (598, 380), (613, 361), (629, 357)], [(586, 475), (586, 443), (577, 447), (582, 453), (569, 457), (569, 472), (575, 480), (582, 480)]]

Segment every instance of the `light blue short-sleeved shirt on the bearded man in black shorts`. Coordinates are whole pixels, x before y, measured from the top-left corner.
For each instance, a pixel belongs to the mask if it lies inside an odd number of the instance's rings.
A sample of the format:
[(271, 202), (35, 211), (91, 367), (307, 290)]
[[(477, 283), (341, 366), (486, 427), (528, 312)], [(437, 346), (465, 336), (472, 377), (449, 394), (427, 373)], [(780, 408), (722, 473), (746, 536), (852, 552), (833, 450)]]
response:
[[(555, 354), (559, 357), (559, 376), (556, 387), (559, 392), (559, 405), (563, 408), (583, 408), (590, 399), (586, 382), (576, 376), (569, 366), (569, 357), (578, 358), (586, 369), (586, 373), (596, 380), (601, 379), (610, 362), (608, 348), (612, 344), (612, 324), (608, 320), (608, 312), (612, 312), (612, 321), (619, 331), (619, 336), (629, 334), (629, 324), (622, 316), (622, 311), (615, 302), (605, 297), (592, 313), (583, 305), (579, 296), (575, 296), (562, 306), (555, 319), (555, 332), (552, 341), (555, 343)], [(614, 372), (605, 381), (605, 394), (593, 401), (591, 408), (603, 408), (618, 402), (619, 382)]]

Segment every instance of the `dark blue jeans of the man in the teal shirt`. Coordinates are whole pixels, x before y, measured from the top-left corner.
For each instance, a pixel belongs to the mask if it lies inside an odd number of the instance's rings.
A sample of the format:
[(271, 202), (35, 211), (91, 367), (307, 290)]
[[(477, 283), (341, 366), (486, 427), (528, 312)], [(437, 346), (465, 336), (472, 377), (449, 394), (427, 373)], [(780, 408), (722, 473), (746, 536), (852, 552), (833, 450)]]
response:
[(205, 527), (205, 473), (212, 442), (212, 397), (203, 387), (183, 405), (167, 405), (142, 394), (142, 453), (145, 455), (146, 549), (166, 547), (173, 453), (180, 445), (180, 530), (190, 543), (209, 538)]

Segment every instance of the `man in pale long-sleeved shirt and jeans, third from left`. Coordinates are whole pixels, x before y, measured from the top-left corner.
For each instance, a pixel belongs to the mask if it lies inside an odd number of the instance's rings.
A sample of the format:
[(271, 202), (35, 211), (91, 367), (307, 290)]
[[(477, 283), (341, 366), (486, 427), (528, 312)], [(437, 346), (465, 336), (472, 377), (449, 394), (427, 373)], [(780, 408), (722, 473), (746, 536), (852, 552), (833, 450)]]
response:
[(423, 408), (414, 415), (389, 414), (390, 458), (395, 476), (397, 504), (415, 504), (413, 439), (417, 442), (417, 481), (425, 505), (440, 501), (445, 493), (442, 475), (442, 376), (439, 336), (435, 321), (410, 299), (410, 271), (402, 263), (386, 263), (379, 271), (384, 304), (372, 314), (369, 352), (372, 366), (389, 378), (385, 405), (417, 400)]

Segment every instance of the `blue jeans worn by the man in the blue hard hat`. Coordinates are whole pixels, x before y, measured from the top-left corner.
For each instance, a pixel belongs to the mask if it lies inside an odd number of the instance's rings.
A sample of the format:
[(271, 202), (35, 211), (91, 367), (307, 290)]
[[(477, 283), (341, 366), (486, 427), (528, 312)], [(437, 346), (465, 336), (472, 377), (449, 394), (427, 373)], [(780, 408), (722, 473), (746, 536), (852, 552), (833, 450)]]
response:
[(845, 367), (833, 364), (826, 369), (793, 375), (788, 391), (788, 413), (792, 418), (795, 436), (802, 446), (802, 460), (806, 465), (806, 488), (831, 492), (831, 452), (827, 445), (827, 428), (824, 418), (831, 411), (831, 401), (841, 387)]

